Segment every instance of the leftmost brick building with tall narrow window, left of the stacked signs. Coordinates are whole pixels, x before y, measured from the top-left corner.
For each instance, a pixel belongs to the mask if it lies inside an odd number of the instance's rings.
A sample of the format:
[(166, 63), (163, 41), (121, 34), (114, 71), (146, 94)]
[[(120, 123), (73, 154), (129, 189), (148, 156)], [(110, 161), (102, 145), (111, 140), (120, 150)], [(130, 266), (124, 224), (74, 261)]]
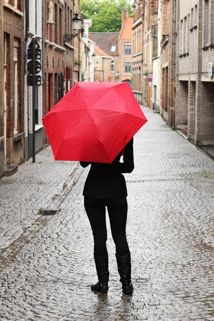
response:
[[(5, 174), (24, 162), (24, 1), (3, 1)], [(2, 149), (2, 146), (1, 146)]]

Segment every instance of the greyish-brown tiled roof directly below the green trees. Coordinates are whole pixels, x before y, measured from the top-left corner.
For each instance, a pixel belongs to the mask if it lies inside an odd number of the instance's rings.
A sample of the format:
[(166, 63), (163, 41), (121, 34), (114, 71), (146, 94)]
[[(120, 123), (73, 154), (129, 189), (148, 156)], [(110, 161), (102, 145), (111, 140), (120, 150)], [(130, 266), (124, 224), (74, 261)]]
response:
[[(95, 42), (96, 46), (104, 50), (108, 55), (118, 55), (119, 32), (89, 32), (89, 38)], [(111, 51), (115, 46), (115, 51)]]

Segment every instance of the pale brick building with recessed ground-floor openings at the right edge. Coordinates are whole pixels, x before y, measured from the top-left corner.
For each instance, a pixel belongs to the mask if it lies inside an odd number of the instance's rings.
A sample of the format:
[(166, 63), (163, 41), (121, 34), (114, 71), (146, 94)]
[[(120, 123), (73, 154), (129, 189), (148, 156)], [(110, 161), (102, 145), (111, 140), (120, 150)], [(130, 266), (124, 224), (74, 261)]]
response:
[(179, 1), (176, 128), (199, 146), (214, 145), (213, 16), (212, 1)]

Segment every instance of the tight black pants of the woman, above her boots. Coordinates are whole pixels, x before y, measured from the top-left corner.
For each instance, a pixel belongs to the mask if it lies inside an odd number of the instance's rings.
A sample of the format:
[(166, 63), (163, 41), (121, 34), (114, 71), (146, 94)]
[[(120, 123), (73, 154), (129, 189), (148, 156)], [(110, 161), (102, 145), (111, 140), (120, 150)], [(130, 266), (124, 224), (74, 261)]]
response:
[(116, 254), (124, 256), (129, 253), (126, 239), (127, 200), (123, 198), (97, 199), (84, 197), (84, 206), (91, 225), (94, 238), (94, 255), (107, 256), (106, 207), (115, 243)]

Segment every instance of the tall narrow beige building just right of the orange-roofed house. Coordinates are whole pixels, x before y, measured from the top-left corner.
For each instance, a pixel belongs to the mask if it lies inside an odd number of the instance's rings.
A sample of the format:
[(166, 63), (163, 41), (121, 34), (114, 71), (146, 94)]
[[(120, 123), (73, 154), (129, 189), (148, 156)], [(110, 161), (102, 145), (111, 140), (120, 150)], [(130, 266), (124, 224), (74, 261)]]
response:
[(142, 104), (142, 69), (143, 69), (143, 1), (133, 3), (133, 50), (132, 50), (132, 90), (138, 102)]

